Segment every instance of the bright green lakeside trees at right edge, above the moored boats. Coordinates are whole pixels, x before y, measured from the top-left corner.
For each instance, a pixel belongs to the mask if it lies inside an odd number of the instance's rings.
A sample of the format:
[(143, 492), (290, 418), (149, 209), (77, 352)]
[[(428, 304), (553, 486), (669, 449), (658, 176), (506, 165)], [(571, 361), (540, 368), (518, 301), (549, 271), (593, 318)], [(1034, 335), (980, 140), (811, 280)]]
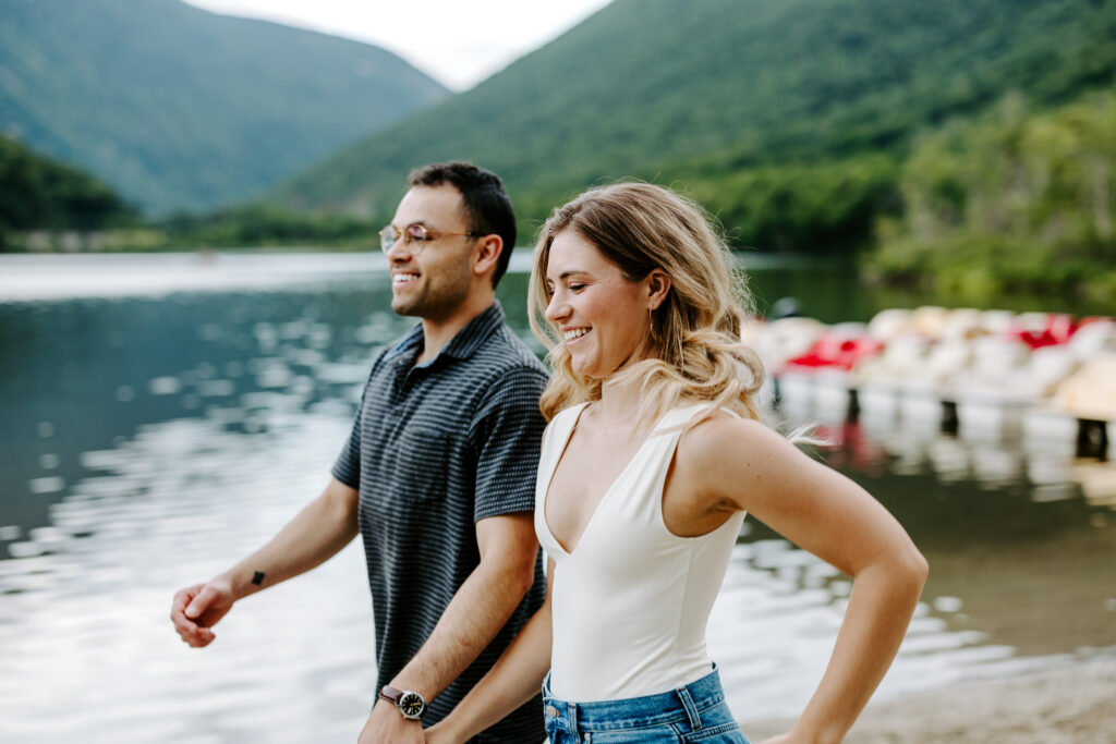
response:
[(1007, 96), (922, 137), (899, 185), (903, 215), (867, 257), (891, 282), (1116, 300), (1116, 89), (1045, 112)]

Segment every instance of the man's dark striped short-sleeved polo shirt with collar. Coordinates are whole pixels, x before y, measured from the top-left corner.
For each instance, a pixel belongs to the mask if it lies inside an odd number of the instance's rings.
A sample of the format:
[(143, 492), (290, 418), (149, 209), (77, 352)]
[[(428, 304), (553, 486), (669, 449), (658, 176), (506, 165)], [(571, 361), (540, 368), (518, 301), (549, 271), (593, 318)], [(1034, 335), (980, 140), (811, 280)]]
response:
[[(422, 325), (373, 364), (353, 433), (333, 474), (360, 493), (359, 521), (376, 626), (377, 689), (425, 642), (480, 563), (474, 523), (531, 511), (546, 424), (546, 368), (504, 325), (499, 302), (434, 359), (415, 365)], [(440, 721), (484, 676), (542, 603), (535, 584), (480, 657), (433, 700)], [(528, 703), (478, 742), (539, 742), (542, 704)]]

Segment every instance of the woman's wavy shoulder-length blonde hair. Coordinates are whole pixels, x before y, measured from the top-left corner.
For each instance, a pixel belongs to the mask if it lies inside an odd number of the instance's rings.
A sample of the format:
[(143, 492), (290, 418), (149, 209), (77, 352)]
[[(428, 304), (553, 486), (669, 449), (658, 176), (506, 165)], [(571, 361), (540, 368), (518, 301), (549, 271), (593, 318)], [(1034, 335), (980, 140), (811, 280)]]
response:
[(566, 230), (593, 243), (629, 281), (654, 269), (670, 277), (666, 299), (651, 315), (647, 358), (614, 376), (643, 390), (637, 431), (683, 400), (708, 400), (709, 413), (727, 408), (760, 418), (763, 365), (740, 335), (752, 299), (743, 274), (729, 269), (731, 255), (720, 231), (690, 199), (663, 186), (624, 182), (591, 189), (556, 209), (539, 231), (528, 308), (531, 330), (549, 349), (552, 376), (539, 402), (547, 421), (600, 398), (602, 380), (574, 371), (558, 329), (543, 315), (550, 302), (550, 245)]

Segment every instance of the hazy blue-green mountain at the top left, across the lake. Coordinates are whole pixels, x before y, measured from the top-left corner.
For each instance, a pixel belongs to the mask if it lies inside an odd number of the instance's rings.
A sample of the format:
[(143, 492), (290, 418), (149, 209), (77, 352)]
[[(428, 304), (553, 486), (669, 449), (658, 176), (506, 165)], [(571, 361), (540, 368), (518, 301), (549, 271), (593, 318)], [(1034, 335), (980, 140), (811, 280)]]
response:
[(148, 213), (244, 201), (446, 95), (377, 47), (177, 0), (0, 0), (0, 132)]

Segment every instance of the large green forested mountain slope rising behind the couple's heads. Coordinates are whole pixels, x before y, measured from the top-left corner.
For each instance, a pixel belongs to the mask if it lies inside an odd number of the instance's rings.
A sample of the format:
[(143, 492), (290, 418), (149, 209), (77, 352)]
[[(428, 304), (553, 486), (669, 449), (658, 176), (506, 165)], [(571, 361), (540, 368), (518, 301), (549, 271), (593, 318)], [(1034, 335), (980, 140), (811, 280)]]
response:
[[(1109, 84), (1113, 39), (1116, 0), (616, 0), (275, 199), (383, 219), (408, 168), (461, 158), (504, 177), (528, 228), (589, 184), (639, 176), (695, 187), (759, 248), (852, 245), (891, 209), (915, 133), (1006, 90), (1052, 105)], [(857, 196), (837, 214), (805, 203), (819, 178)], [(757, 210), (825, 230), (752, 230)]]

